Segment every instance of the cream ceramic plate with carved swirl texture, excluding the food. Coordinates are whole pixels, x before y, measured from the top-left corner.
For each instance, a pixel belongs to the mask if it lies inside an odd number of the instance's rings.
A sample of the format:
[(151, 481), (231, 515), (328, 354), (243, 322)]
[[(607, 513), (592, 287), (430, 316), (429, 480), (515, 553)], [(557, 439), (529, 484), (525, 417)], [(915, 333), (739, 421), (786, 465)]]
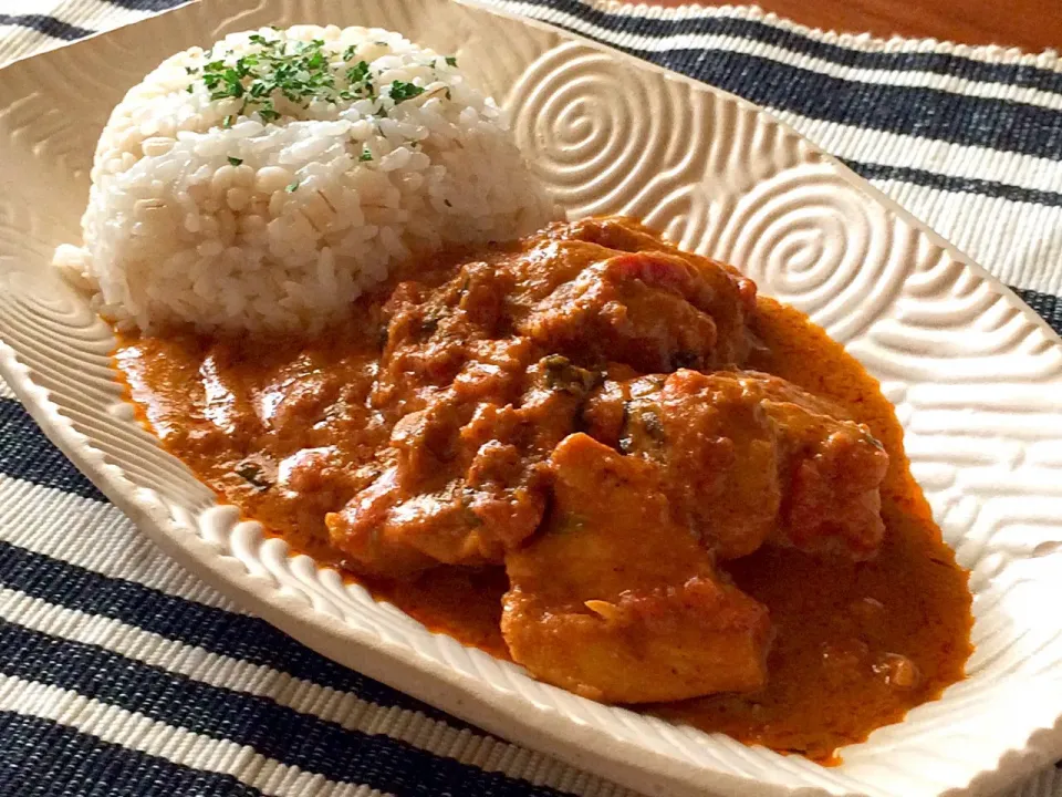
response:
[[(969, 677), (825, 769), (540, 684), (238, 522), (133, 420), (111, 332), (50, 270), (96, 136), (164, 54), (264, 24), (455, 52), (573, 216), (628, 213), (731, 261), (884, 385), (976, 593)], [(763, 112), (541, 24), (446, 0), (205, 0), (0, 79), (0, 371), (171, 556), (311, 648), (653, 795), (986, 794), (1062, 755), (1062, 345), (981, 268)]]

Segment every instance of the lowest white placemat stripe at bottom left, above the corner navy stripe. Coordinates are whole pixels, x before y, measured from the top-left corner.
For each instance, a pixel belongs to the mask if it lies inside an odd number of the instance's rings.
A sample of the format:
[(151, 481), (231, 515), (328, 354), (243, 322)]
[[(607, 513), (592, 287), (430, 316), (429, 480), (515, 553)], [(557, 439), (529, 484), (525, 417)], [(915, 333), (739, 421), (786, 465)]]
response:
[[(0, 711), (50, 720), (126, 749), (201, 772), (229, 775), (277, 797), (376, 797), (381, 794), (368, 786), (327, 780), (235, 742), (166, 725), (35, 681), (0, 675)], [(32, 777), (32, 773), (27, 775)]]

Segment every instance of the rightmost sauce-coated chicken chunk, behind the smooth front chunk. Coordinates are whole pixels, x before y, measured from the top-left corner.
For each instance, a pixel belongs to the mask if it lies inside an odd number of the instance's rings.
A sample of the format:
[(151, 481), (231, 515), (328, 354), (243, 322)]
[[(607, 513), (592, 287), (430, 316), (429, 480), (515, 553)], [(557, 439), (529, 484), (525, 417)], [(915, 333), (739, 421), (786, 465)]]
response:
[(663, 466), (678, 516), (720, 559), (761, 545), (873, 556), (888, 455), (836, 406), (754, 372), (608, 383), (590, 433)]

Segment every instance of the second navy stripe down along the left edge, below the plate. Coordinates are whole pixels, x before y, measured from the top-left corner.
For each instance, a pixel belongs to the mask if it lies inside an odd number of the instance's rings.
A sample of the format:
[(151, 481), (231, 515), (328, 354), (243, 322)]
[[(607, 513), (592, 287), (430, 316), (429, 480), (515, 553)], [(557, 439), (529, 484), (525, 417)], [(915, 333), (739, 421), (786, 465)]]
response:
[(0, 540), (0, 584), (49, 603), (119, 620), (211, 653), (261, 664), (381, 705), (458, 720), (314, 653), (264, 620), (112, 579)]

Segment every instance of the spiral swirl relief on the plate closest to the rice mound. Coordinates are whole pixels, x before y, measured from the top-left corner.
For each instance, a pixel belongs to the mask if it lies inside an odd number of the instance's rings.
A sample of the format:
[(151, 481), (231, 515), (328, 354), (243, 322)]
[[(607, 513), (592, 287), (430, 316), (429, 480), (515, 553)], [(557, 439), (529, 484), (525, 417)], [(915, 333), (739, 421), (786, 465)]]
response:
[(507, 107), (571, 216), (637, 216), (700, 251), (740, 196), (810, 155), (737, 99), (577, 42), (532, 63)]

